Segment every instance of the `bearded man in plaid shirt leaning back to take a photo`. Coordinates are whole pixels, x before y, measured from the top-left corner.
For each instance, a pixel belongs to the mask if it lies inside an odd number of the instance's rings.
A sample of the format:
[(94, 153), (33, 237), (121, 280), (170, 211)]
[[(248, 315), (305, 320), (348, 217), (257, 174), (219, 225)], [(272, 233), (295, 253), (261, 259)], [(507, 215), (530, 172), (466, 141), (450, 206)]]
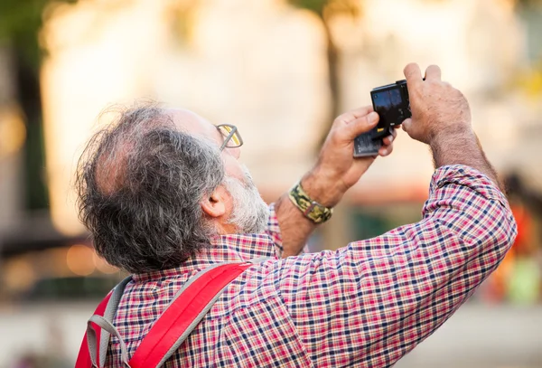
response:
[(352, 157), (354, 138), (378, 123), (369, 107), (336, 118), (313, 169), (270, 207), (238, 162), (236, 127), (144, 107), (94, 137), (79, 167), (81, 219), (98, 254), (132, 274), (105, 366), (126, 366), (201, 269), (261, 257), (165, 366), (390, 366), (441, 326), (499, 265), (516, 225), (462, 93), (436, 66), (425, 80), (416, 64), (405, 75), (403, 129), (435, 160), (423, 220), (336, 251), (300, 255), (375, 159)]

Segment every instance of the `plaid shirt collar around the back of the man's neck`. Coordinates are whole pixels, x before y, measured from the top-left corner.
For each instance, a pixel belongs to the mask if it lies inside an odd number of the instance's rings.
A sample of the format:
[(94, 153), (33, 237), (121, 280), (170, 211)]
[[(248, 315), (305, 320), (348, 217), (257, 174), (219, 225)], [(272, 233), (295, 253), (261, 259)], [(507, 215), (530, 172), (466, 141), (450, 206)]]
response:
[(174, 269), (162, 269), (132, 275), (135, 282), (158, 278), (173, 278), (195, 269), (204, 269), (213, 263), (244, 262), (261, 257), (276, 257), (272, 238), (266, 234), (228, 234), (210, 240), (210, 247), (186, 260)]

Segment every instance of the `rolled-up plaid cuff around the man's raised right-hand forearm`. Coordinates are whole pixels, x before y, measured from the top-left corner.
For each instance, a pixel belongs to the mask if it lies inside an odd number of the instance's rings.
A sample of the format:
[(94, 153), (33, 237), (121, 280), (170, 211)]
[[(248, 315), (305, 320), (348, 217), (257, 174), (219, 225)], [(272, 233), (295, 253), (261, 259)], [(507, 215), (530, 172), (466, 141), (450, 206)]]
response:
[(429, 186), (429, 197), (447, 184), (467, 186), (487, 199), (499, 201), (504, 207), (508, 207), (508, 200), (497, 184), (470, 166), (446, 165), (436, 169)]

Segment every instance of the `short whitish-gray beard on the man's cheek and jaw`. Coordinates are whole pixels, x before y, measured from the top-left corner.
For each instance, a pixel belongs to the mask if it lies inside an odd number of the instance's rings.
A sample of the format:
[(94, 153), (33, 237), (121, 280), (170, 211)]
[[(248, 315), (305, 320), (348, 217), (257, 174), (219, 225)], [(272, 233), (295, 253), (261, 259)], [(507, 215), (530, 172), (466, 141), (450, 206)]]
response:
[(259, 234), (266, 231), (269, 208), (260, 197), (248, 168), (243, 165), (244, 180), (224, 177), (224, 184), (233, 199), (233, 210), (228, 223), (240, 234)]

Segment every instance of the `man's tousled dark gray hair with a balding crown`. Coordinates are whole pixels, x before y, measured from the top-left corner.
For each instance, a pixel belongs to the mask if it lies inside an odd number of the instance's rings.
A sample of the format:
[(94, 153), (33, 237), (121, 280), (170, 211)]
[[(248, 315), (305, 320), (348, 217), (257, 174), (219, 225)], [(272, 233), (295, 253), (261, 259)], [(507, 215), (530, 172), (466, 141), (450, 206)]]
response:
[(164, 109), (126, 109), (79, 159), (79, 218), (108, 263), (171, 269), (210, 245), (200, 202), (223, 178), (218, 147), (180, 131)]

